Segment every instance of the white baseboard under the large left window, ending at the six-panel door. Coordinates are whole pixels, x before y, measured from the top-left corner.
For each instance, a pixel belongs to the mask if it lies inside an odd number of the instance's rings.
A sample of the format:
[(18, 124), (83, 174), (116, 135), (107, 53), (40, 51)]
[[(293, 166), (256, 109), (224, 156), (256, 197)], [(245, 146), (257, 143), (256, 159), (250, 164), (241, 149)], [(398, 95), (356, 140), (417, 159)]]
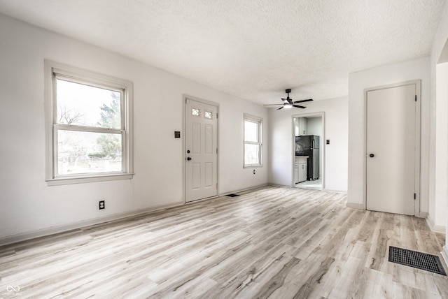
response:
[(34, 238), (40, 238), (40, 237), (44, 237), (45, 235), (54, 235), (55, 233), (64, 233), (66, 231), (73, 231), (75, 229), (83, 228), (85, 226), (91, 226), (94, 224), (102, 224), (104, 222), (114, 221), (114, 220), (123, 219), (123, 218), (127, 218), (127, 217), (134, 217), (134, 216), (137, 216), (140, 214), (146, 214), (146, 213), (151, 213), (151, 212), (157, 212), (160, 210), (166, 210), (170, 207), (179, 207), (180, 205), (184, 205), (184, 204), (185, 204), (184, 202), (181, 202), (181, 203), (172, 203), (169, 205), (157, 205), (157, 206), (148, 207), (148, 208), (145, 208), (142, 210), (134, 210), (131, 212), (118, 213), (118, 214), (113, 214), (113, 215), (109, 215), (106, 217), (99, 217), (99, 218), (95, 218), (95, 219), (78, 221), (78, 222), (75, 222), (72, 224), (64, 224), (61, 226), (52, 226), (50, 228), (43, 228), (38, 231), (19, 233), (17, 235), (9, 235), (9, 236), (0, 238), (0, 246), (8, 245), (8, 244), (16, 243), (16, 242), (22, 242), (22, 241), (30, 240), (30, 239), (34, 239)]

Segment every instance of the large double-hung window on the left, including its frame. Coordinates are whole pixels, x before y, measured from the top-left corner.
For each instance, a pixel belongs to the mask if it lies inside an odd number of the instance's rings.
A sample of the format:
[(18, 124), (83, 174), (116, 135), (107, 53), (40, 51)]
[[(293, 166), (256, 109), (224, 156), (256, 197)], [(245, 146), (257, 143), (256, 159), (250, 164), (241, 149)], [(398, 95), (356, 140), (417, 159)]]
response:
[(45, 61), (48, 184), (132, 178), (132, 82)]

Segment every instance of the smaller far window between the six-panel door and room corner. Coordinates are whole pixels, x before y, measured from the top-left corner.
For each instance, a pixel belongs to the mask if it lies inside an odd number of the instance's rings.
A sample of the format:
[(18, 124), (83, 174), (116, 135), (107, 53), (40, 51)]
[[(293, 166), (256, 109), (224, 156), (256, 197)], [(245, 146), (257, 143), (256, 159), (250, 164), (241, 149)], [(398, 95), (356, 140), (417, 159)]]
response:
[(262, 166), (262, 119), (244, 115), (244, 167)]

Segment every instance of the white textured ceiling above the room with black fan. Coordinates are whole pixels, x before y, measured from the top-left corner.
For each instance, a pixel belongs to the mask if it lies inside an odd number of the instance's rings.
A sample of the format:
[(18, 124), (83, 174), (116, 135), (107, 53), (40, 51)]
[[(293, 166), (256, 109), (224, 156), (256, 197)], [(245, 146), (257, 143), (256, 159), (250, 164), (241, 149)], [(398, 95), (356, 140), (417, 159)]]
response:
[(0, 12), (256, 103), (430, 54), (445, 0), (0, 0)]

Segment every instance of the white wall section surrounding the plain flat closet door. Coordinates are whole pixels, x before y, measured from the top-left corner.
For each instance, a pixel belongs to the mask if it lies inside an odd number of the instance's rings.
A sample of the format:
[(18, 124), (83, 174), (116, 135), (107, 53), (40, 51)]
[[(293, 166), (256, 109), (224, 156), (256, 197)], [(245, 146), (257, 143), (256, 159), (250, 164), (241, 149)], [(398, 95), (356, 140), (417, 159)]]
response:
[(421, 79), (420, 212), (428, 212), (428, 155), (430, 130), (430, 58), (381, 66), (349, 74), (349, 185), (347, 203), (363, 208), (365, 182), (364, 90)]

